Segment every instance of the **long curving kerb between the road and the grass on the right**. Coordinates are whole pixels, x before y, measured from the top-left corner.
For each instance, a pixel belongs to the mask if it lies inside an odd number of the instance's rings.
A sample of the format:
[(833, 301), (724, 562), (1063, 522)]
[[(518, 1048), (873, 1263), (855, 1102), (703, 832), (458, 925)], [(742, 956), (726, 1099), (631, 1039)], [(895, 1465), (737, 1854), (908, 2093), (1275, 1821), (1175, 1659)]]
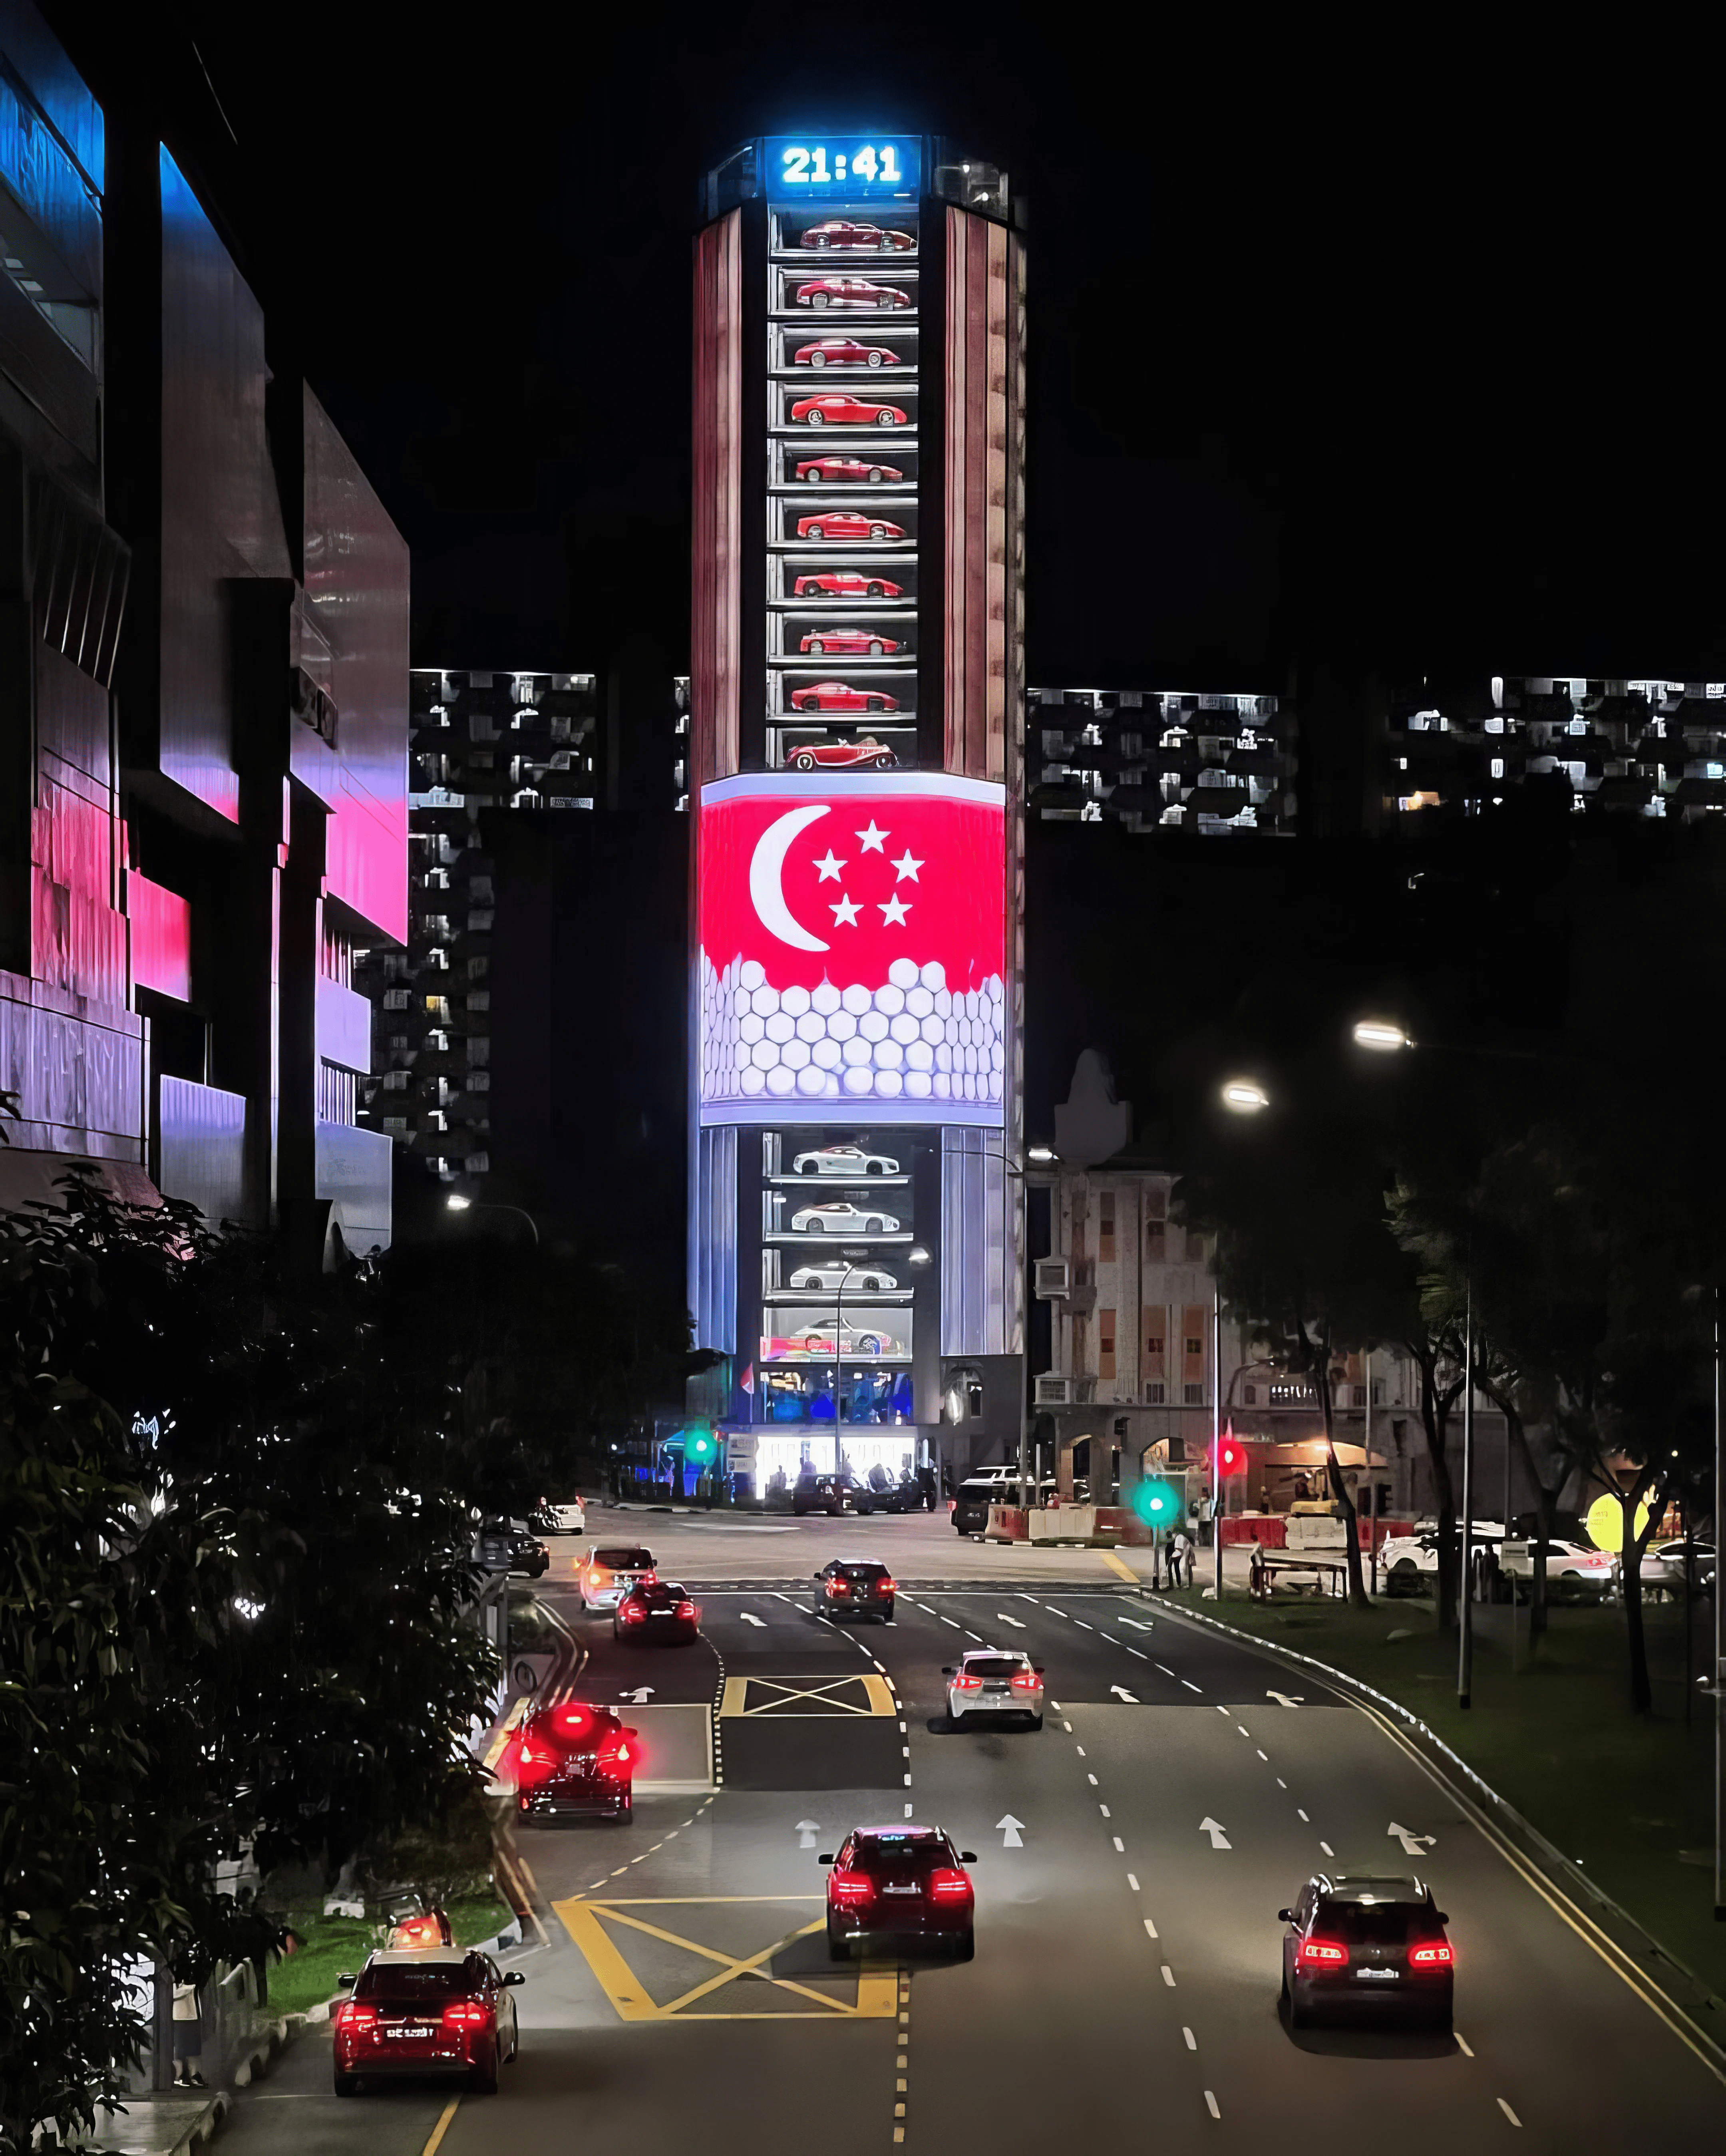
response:
[[(1661, 1964), (1661, 1971), (1670, 1971), (1679, 1979), (1679, 1990), (1687, 1996), (1672, 1996), (1666, 1986), (1655, 1986), (1672, 2007), (1681, 2014), (1685, 2027), (1694, 2031), (1696, 2042), (1707, 2048), (1709, 2061), (1715, 2072), (1726, 2078), (1726, 2048), (1722, 2048), (1720, 2031), (1726, 2031), (1726, 2001), (1720, 1999), (1709, 1986), (1692, 1971), (1685, 1962), (1670, 1953), (1653, 1934), (1631, 1917), (1627, 1908), (1612, 1899), (1601, 1887), (1595, 1884), (1584, 1871), (1577, 1871), (1564, 1858), (1564, 1852), (1556, 1843), (1526, 1820), (1508, 1798), (1500, 1796), (1489, 1781), (1485, 1781), (1476, 1770), (1461, 1757), (1450, 1744), (1437, 1736), (1420, 1716), (1392, 1699), (1388, 1692), (1377, 1690), (1362, 1677), (1351, 1677), (1347, 1669), (1336, 1669), (1334, 1662), (1321, 1662), (1314, 1654), (1302, 1654), (1299, 1647), (1284, 1647), (1280, 1641), (1261, 1639), (1256, 1632), (1243, 1632), (1241, 1626), (1224, 1623), (1222, 1617), (1209, 1617), (1205, 1611), (1174, 1608), (1159, 1595), (1149, 1593), (1140, 1587), (1140, 1598), (1155, 1602), (1155, 1606), (1179, 1623), (1202, 1626), (1211, 1632), (1226, 1632), (1230, 1639), (1239, 1641), (1243, 1647), (1263, 1654), (1265, 1660), (1282, 1662), (1289, 1667), (1312, 1669), (1332, 1684), (1342, 1686), (1353, 1692), (1360, 1701), (1366, 1701), (1370, 1710), (1381, 1712), (1392, 1718), (1398, 1727), (1398, 1736), (1411, 1738), (1418, 1746), (1418, 1757), (1429, 1774), (1437, 1777), (1459, 1805), (1474, 1811), (1493, 1826), (1526, 1863), (1534, 1865), (1541, 1878), (1560, 1895), (1577, 1919), (1597, 1932), (1623, 1960), (1627, 1960), (1640, 1981), (1653, 1984), (1646, 1962)], [(1437, 1757), (1433, 1757), (1437, 1755)], [(1465, 1789), (1457, 1789), (1450, 1774), (1461, 1774), (1467, 1783)], [(1586, 1891), (1592, 1908), (1584, 1908), (1577, 1887)], [(1623, 1936), (1614, 1936), (1623, 1934)], [(1707, 2020), (1702, 2018), (1707, 2016)]]

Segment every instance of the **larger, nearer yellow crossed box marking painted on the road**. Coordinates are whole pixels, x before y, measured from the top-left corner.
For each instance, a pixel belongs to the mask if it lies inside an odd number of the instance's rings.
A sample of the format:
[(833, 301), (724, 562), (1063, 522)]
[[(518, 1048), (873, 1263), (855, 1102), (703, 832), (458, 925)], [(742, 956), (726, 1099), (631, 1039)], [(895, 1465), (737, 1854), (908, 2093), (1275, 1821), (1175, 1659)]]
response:
[[(698, 1938), (683, 1938), (679, 1932), (668, 1932), (644, 1917), (631, 1915), (631, 1910), (642, 1908), (711, 1908), (724, 1904), (726, 1908), (761, 1908), (774, 1912), (774, 1925), (784, 1921), (784, 1904), (797, 1904), (808, 1908), (819, 1906), (819, 1895), (672, 1895), (672, 1897), (651, 1897), (651, 1899), (606, 1899), (606, 1902), (554, 1902), (554, 1910), (562, 1919), (565, 1930), (575, 1940), (575, 1945), (586, 1955), (588, 1968), (599, 1979), (599, 1988), (610, 1999), (618, 2020), (629, 2022), (666, 2022), (666, 2020), (892, 2020), (899, 2001), (899, 1971), (868, 1968), (858, 1973), (858, 1999), (855, 2005), (845, 1999), (834, 1999), (830, 1992), (819, 1992), (810, 1984), (797, 1984), (793, 1977), (776, 1977), (769, 1968), (776, 1953), (784, 1953), (799, 1938), (808, 1938), (815, 1932), (825, 1930), (827, 1919), (815, 1917), (808, 1923), (795, 1923), (789, 1932), (778, 1934), (765, 1947), (754, 1953), (724, 1953), (720, 1947), (709, 1947)], [(687, 1921), (687, 1919), (679, 1919)], [(612, 1936), (610, 1925), (634, 1930), (646, 1934), (646, 1938), (657, 1938), (668, 1947), (677, 1947), (683, 1953), (694, 1953), (698, 1960), (718, 1962), (718, 1975), (707, 1977), (702, 1984), (692, 1986), (677, 1999), (657, 2001), (646, 1990), (646, 1984), (636, 1975), (629, 1962), (623, 1958), (618, 1940)], [(838, 1971), (834, 1971), (838, 1975)], [(793, 1992), (806, 1999), (806, 2007), (787, 2007), (782, 2012), (748, 2012), (748, 2009), (711, 2009), (709, 2001), (724, 1990), (726, 1984), (735, 1984), (739, 1977), (756, 1977), (761, 1981), (774, 1984), (784, 1992)]]

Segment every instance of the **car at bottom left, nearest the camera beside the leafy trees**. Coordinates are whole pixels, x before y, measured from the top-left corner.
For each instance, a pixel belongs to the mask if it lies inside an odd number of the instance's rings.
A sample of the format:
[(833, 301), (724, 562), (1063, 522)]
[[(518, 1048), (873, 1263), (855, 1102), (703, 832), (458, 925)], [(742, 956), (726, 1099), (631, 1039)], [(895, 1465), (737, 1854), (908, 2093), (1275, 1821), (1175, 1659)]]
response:
[(459, 1947), (373, 1953), (358, 1977), (336, 1977), (349, 1992), (330, 2016), (336, 2096), (420, 2074), (496, 2096), (498, 2068), (521, 2048), (509, 1996), (521, 1981)]

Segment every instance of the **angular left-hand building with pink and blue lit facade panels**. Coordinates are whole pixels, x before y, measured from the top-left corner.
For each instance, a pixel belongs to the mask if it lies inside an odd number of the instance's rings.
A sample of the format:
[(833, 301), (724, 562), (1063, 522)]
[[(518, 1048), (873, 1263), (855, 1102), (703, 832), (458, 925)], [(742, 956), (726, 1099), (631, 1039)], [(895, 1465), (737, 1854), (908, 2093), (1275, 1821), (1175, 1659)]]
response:
[(103, 110), (28, 0), (0, 52), (0, 1203), (91, 1160), (368, 1250), (407, 548), (149, 99)]

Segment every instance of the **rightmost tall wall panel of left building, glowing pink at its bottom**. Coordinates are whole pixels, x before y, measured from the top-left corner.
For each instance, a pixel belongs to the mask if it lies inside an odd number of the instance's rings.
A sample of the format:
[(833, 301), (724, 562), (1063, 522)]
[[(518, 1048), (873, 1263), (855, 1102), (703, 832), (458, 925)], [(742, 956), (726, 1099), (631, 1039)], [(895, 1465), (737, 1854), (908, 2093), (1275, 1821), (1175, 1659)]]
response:
[(405, 942), (407, 545), (310, 390), (304, 414), (306, 599), (338, 711), (325, 890)]

